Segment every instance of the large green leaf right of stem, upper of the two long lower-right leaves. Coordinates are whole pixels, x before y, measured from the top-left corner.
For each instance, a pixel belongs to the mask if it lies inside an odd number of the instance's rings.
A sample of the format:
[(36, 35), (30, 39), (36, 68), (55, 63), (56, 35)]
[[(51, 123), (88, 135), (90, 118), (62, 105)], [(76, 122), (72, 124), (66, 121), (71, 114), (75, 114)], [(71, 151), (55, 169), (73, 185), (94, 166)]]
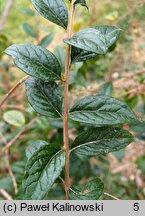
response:
[(87, 96), (79, 100), (70, 109), (69, 117), (74, 121), (96, 126), (137, 121), (127, 103), (105, 95)]

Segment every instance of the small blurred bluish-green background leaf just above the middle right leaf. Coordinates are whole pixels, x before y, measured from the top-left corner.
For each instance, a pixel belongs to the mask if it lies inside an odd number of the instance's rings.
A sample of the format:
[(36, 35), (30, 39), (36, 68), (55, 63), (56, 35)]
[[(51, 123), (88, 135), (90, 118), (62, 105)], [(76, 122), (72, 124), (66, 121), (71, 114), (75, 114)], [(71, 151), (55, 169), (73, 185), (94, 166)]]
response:
[(111, 82), (102, 84), (98, 90), (98, 94), (111, 96), (113, 92), (113, 85)]

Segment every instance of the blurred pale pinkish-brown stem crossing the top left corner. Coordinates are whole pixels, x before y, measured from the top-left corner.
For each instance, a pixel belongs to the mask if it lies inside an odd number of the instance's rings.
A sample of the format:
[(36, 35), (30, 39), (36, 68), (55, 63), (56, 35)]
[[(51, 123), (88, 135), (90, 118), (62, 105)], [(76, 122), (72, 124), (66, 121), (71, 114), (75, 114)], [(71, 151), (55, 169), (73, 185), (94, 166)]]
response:
[(7, 3), (7, 5), (6, 5), (6, 7), (5, 7), (5, 10), (4, 10), (4, 12), (2, 14), (2, 17), (0, 19), (0, 32), (3, 29), (4, 23), (6, 21), (6, 18), (8, 16), (8, 14), (9, 14), (9, 11), (10, 11), (13, 3), (14, 3), (14, 0), (9, 0), (8, 3)]

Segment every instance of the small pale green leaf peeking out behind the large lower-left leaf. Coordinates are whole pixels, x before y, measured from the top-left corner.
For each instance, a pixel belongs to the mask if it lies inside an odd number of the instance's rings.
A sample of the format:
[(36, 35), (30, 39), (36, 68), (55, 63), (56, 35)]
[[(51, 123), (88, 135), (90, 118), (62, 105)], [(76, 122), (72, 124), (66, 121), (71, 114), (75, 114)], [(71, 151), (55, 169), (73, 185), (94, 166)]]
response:
[(31, 156), (40, 149), (42, 146), (47, 145), (47, 142), (44, 140), (37, 140), (30, 144), (26, 149), (26, 156), (27, 158), (31, 158)]

